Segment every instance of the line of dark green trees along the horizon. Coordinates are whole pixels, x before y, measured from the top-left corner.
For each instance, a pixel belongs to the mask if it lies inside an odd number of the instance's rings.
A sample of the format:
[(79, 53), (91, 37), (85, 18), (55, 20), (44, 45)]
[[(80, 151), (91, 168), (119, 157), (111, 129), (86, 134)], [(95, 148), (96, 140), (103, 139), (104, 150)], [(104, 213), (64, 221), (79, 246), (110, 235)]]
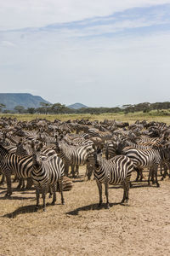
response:
[(99, 114), (99, 113), (134, 113), (134, 112), (144, 112), (149, 113), (151, 110), (162, 110), (162, 109), (170, 109), (170, 102), (144, 102), (139, 104), (127, 104), (122, 105), (122, 107), (115, 108), (79, 108), (73, 109), (68, 108), (64, 104), (61, 103), (45, 103), (41, 102), (39, 108), (25, 108), (23, 106), (15, 106), (14, 111), (5, 109), (6, 106), (3, 103), (0, 103), (0, 112), (1, 113), (45, 113), (45, 114), (58, 114), (58, 113), (91, 113), (91, 114)]

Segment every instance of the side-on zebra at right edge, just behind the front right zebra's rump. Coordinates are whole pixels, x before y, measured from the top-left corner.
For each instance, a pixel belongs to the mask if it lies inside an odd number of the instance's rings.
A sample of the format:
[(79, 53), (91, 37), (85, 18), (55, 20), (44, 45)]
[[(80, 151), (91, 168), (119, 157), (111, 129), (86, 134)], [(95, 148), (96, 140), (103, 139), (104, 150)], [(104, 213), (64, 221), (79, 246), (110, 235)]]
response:
[[(131, 160), (133, 160), (134, 170), (137, 169), (137, 172), (142, 172), (146, 167), (149, 168), (149, 177), (148, 184), (150, 184), (150, 175), (155, 175), (156, 185), (159, 187), (157, 181), (157, 168), (163, 161), (168, 161), (170, 156), (169, 148), (155, 147), (146, 150), (138, 148), (124, 148), (122, 151), (123, 154), (127, 155)], [(139, 176), (137, 177), (137, 181)]]

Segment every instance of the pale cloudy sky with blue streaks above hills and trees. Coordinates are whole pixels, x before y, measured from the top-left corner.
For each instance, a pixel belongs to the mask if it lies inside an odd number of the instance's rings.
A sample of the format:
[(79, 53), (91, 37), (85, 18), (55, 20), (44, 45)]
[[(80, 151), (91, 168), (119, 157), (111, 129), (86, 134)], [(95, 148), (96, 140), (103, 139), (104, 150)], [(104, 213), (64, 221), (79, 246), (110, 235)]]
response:
[(170, 102), (170, 0), (0, 0), (0, 92)]

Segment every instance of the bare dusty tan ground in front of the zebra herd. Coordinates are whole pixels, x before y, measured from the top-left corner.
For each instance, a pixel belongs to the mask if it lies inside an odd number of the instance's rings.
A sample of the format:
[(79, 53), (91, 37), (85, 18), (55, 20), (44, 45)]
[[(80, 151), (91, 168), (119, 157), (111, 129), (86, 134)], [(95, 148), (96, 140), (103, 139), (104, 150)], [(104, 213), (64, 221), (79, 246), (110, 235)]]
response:
[(128, 206), (119, 203), (122, 189), (110, 187), (107, 210), (97, 207), (94, 180), (80, 177), (65, 192), (65, 206), (57, 193), (47, 212), (34, 212), (34, 191), (14, 190), (9, 200), (1, 186), (0, 256), (170, 255), (170, 180), (160, 183), (133, 183)]

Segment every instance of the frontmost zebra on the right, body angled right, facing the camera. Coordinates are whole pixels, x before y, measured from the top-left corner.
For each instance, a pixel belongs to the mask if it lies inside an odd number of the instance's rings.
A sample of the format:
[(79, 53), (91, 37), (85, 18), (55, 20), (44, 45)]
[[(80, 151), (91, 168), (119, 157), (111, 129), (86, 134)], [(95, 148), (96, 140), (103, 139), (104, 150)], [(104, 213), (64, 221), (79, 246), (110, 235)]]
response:
[(125, 155), (116, 155), (110, 160), (102, 158), (102, 153), (98, 150), (89, 161), (94, 164), (94, 178), (99, 189), (99, 206), (102, 203), (102, 183), (105, 183), (106, 207), (109, 208), (108, 185), (122, 183), (123, 198), (122, 202), (128, 201), (128, 190), (130, 188), (130, 177), (133, 172), (133, 161)]

